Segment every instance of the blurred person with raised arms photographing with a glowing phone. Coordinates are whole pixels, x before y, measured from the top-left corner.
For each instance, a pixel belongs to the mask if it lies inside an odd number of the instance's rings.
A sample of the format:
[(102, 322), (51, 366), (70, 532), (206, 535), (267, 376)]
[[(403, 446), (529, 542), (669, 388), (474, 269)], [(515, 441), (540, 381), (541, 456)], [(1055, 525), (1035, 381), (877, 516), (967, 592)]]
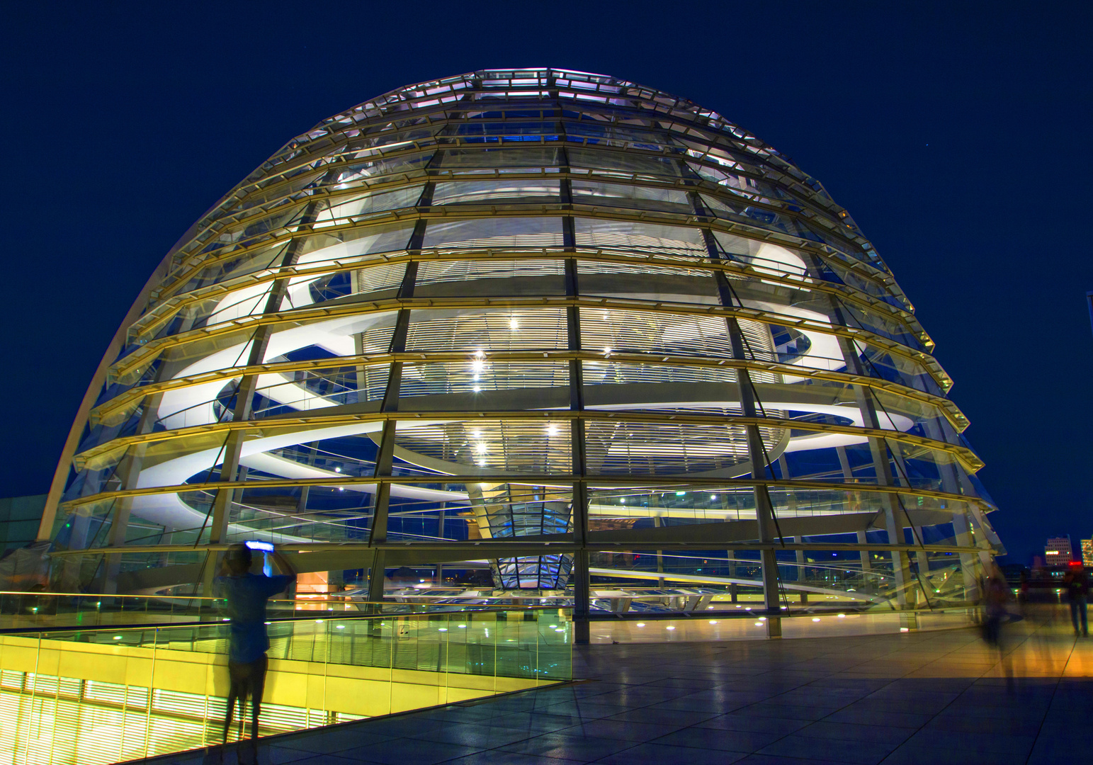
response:
[(286, 574), (251, 574), (254, 558), (250, 549), (245, 544), (233, 544), (224, 555), (221, 576), (214, 580), (220, 596), (227, 600), (227, 613), (232, 620), (227, 652), (231, 684), (224, 716), (224, 743), (227, 743), (236, 699), (239, 701), (239, 738), (243, 738), (247, 696), (250, 697), (250, 739), (256, 743), (258, 714), (269, 666), (266, 656), (270, 647), (266, 633), (266, 601), (296, 580), (296, 574), (284, 555), (272, 548), (270, 551), (278, 568)]

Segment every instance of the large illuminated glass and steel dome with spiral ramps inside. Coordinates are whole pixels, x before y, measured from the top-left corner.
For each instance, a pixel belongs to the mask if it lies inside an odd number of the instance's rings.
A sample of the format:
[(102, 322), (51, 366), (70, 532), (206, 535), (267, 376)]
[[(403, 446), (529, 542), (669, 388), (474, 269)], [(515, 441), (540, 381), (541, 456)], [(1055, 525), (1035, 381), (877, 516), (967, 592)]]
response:
[(948, 555), (974, 599), (994, 507), (931, 349), (849, 214), (718, 114), (559, 69), (421, 83), (172, 249), (39, 539), (55, 586), (103, 591), (270, 539), (303, 570), (572, 579), (578, 620), (601, 551), (759, 551), (772, 612), (778, 551), (880, 554), (906, 609)]

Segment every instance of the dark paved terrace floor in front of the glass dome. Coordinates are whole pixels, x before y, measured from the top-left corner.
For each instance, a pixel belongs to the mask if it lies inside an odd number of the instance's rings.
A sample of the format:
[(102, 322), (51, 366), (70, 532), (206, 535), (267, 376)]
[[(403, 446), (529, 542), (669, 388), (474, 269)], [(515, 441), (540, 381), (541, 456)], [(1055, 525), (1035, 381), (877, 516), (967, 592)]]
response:
[[(588, 682), (272, 737), (258, 762), (1089, 762), (1093, 643), (1069, 632), (1010, 625), (1001, 662), (966, 628), (579, 647), (574, 674)], [(220, 753), (146, 762), (198, 765)], [(236, 763), (231, 746), (223, 762)]]

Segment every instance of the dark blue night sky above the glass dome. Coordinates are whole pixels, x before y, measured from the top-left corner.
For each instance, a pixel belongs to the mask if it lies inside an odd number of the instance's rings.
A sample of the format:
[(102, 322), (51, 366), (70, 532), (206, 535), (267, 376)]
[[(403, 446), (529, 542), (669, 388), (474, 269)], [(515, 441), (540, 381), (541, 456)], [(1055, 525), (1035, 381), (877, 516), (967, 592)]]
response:
[(553, 66), (689, 97), (819, 178), (937, 342), (1010, 561), (1093, 534), (1091, 17), (1077, 2), (9, 3), (0, 496), (48, 489), (152, 269), (287, 139), (403, 84)]

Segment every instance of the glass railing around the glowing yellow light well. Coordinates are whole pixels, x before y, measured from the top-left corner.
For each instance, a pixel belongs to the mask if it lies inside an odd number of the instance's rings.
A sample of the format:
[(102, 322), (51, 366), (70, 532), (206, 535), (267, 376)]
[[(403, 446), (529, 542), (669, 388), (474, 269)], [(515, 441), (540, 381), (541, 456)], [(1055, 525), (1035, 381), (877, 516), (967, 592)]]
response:
[[(564, 609), (309, 612), (268, 629), (261, 735), (572, 679)], [(116, 763), (219, 743), (227, 640), (223, 622), (0, 633), (0, 762)], [(228, 740), (238, 734), (233, 725)]]

